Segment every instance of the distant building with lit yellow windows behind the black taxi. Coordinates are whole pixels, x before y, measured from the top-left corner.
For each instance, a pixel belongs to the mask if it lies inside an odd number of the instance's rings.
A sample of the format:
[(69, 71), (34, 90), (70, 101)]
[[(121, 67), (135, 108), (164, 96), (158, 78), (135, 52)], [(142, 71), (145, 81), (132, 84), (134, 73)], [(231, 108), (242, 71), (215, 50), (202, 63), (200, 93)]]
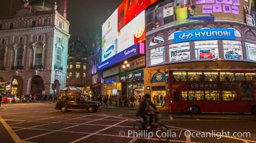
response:
[(84, 90), (87, 81), (86, 63), (86, 46), (78, 38), (68, 47), (67, 86)]

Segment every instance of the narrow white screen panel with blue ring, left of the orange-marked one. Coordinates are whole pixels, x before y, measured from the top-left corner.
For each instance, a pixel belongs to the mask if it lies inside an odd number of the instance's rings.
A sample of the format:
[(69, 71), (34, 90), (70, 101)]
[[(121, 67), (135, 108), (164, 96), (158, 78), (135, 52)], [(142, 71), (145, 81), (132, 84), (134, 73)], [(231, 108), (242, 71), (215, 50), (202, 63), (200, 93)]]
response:
[(102, 25), (101, 61), (117, 53), (117, 9)]

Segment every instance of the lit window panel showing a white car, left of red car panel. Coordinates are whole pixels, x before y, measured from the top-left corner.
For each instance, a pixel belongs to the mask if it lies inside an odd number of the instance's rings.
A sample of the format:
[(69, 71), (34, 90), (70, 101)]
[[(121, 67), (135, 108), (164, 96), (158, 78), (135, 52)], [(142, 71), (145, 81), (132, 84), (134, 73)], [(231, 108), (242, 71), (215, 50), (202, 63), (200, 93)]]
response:
[(191, 59), (189, 42), (179, 43), (179, 44), (170, 44), (169, 51), (170, 51), (170, 62), (186, 61)]

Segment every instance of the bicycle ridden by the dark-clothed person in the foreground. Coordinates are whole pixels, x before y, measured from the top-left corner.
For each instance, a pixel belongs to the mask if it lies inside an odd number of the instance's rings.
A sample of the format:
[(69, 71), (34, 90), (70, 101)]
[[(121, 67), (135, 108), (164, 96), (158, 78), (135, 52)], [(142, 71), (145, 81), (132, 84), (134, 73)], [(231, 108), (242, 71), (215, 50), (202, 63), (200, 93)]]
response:
[[(146, 129), (147, 132), (151, 132), (153, 129), (155, 130), (156, 137), (161, 141), (161, 142), (168, 142), (170, 139), (170, 136), (168, 135), (168, 127), (165, 126), (165, 124), (162, 124), (160, 122), (161, 114), (160, 112), (155, 112), (154, 114), (154, 120), (152, 122), (152, 125), (150, 126), (150, 129)], [(137, 119), (134, 122), (133, 128), (134, 131), (140, 132), (142, 130), (142, 124), (143, 121), (141, 119)]]

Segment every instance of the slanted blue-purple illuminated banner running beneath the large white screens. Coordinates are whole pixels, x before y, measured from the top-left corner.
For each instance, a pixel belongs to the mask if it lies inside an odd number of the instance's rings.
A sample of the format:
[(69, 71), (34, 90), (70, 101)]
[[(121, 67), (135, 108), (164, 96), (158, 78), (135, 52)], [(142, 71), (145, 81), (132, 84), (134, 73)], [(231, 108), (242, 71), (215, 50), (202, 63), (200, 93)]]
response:
[(134, 44), (129, 48), (125, 49), (124, 51), (119, 52), (119, 54), (116, 54), (111, 58), (106, 59), (105, 61), (102, 61), (101, 63), (99, 63), (98, 70), (101, 71), (102, 69), (106, 69), (107, 67), (114, 65), (119, 61), (122, 61), (124, 59), (127, 59), (137, 54), (140, 54), (140, 49), (138, 48), (138, 44)]

